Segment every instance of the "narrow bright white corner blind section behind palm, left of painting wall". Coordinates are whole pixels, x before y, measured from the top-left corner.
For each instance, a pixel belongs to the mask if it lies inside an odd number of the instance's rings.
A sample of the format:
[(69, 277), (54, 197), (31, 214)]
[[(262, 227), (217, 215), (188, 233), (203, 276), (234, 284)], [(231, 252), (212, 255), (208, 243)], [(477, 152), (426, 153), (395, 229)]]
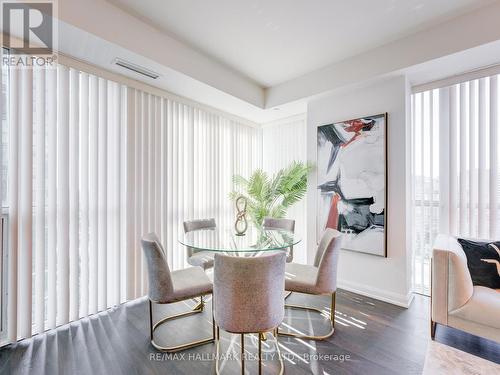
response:
[[(292, 161), (306, 161), (306, 118), (294, 116), (262, 127), (262, 168), (269, 174), (287, 167)], [(291, 207), (287, 217), (295, 220), (295, 233), (302, 241), (294, 247), (294, 261), (307, 262), (306, 202)]]

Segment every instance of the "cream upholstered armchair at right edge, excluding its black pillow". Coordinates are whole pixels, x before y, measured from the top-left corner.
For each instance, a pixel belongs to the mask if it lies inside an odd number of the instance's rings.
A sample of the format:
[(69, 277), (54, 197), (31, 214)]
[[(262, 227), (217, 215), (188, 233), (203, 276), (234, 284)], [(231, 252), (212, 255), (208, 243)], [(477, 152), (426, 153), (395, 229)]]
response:
[(432, 252), (431, 337), (436, 324), (500, 342), (500, 291), (474, 286), (462, 247), (439, 235)]

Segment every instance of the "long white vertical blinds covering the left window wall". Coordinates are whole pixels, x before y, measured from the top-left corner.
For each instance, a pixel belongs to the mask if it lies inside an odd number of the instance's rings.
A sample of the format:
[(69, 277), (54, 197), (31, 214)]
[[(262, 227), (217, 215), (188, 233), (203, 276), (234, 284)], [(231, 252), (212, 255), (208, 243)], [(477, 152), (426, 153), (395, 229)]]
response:
[(4, 76), (11, 342), (143, 296), (141, 236), (184, 267), (182, 222), (228, 225), (232, 175), (260, 166), (257, 128), (196, 105), (63, 65)]

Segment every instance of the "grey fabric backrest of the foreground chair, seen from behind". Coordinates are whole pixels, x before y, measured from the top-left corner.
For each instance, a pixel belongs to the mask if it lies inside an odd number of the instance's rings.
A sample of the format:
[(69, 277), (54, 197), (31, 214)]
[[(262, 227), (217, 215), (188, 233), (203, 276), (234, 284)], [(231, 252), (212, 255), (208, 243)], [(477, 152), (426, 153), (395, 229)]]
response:
[(285, 314), (285, 253), (243, 258), (216, 254), (214, 318), (227, 332), (270, 331)]

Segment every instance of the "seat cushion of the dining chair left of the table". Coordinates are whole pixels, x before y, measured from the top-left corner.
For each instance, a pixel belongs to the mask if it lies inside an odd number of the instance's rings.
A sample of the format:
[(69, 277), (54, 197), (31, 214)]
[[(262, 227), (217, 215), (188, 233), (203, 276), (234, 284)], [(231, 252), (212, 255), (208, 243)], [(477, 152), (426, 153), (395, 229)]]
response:
[(189, 267), (172, 272), (172, 284), (174, 286), (174, 300), (212, 293), (212, 282), (200, 267)]

